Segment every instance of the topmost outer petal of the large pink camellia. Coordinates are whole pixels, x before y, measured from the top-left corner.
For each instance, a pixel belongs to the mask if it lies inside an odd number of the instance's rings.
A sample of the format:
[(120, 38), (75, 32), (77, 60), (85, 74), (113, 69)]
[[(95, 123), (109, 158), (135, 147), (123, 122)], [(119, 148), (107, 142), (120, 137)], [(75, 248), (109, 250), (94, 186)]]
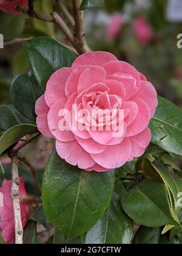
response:
[(110, 62), (112, 60), (118, 60), (115, 55), (109, 52), (87, 52), (79, 56), (75, 62), (73, 62), (72, 68), (78, 68), (82, 65), (96, 65), (103, 66), (104, 63)]

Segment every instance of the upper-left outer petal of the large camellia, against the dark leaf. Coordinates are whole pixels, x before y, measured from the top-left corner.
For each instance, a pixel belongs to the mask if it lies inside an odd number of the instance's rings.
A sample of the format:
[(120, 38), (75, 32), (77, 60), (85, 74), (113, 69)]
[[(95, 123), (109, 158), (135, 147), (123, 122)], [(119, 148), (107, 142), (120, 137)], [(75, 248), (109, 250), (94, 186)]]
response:
[(72, 68), (61, 68), (52, 74), (47, 82), (45, 90), (45, 102), (49, 107), (60, 98), (66, 98), (65, 85), (69, 75), (72, 73)]

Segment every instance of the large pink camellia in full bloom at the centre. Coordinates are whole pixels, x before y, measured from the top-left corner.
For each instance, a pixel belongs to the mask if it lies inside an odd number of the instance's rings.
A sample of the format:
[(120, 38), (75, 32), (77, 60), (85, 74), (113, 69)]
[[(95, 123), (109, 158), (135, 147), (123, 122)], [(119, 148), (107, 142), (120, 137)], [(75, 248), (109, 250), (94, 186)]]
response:
[[(41, 133), (56, 138), (56, 151), (66, 162), (86, 171), (107, 171), (143, 155), (157, 104), (153, 85), (129, 63), (109, 52), (87, 52), (72, 68), (50, 77), (45, 94), (36, 101), (36, 122)], [(84, 109), (84, 115), (75, 106)], [(106, 110), (106, 116), (92, 118), (95, 110)], [(121, 134), (109, 129), (111, 111)]]

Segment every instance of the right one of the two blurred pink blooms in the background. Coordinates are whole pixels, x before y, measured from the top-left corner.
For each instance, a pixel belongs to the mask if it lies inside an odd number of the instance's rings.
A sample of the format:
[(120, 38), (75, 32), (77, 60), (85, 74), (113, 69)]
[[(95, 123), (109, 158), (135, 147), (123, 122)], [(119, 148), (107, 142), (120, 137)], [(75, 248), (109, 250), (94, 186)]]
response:
[(137, 20), (133, 22), (133, 29), (140, 43), (146, 44), (149, 43), (150, 40), (152, 40), (152, 27), (144, 16), (140, 16)]

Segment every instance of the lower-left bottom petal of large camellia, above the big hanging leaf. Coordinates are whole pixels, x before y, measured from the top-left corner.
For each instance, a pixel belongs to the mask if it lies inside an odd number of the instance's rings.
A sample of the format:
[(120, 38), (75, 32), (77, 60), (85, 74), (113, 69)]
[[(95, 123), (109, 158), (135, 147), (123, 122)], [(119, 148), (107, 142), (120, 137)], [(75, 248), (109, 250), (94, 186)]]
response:
[(65, 159), (70, 165), (78, 165), (80, 169), (90, 168), (95, 161), (83, 148), (75, 141), (62, 142), (56, 141), (56, 151), (58, 155)]

